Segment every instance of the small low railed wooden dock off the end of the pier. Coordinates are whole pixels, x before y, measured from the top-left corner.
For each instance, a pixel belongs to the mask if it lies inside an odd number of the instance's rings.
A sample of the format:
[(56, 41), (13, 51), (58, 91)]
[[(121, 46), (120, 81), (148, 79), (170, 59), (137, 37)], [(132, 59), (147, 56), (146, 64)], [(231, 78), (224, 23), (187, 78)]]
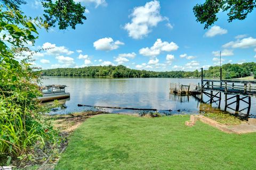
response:
[(179, 83), (170, 83), (170, 93), (179, 96), (200, 94), (199, 86), (195, 84), (183, 85)]

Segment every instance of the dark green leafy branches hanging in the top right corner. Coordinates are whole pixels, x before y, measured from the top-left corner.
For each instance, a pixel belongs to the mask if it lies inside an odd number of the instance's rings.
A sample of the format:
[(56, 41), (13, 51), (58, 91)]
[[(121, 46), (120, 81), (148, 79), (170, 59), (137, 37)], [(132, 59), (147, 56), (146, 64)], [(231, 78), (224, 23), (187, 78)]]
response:
[(204, 25), (207, 29), (218, 20), (218, 12), (227, 12), (228, 22), (233, 20), (244, 20), (247, 14), (256, 7), (255, 0), (206, 0), (204, 4), (196, 4), (193, 12), (196, 21)]

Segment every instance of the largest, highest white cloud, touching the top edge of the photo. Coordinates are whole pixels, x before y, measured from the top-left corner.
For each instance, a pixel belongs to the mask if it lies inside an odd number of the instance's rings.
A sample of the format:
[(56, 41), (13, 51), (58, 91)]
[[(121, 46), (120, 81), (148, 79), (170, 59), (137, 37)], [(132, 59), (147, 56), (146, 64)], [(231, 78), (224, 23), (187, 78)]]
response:
[(148, 35), (151, 28), (165, 20), (160, 14), (160, 8), (159, 1), (150, 1), (145, 6), (134, 7), (130, 15), (131, 23), (126, 23), (124, 26), (124, 29), (129, 33), (129, 37), (141, 39)]

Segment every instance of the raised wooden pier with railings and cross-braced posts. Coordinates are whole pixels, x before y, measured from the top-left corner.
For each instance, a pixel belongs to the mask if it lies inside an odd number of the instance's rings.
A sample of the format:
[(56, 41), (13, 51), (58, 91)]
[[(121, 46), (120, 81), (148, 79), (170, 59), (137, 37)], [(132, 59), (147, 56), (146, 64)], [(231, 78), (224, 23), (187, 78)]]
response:
[[(238, 113), (247, 109), (247, 114), (249, 114), (251, 97), (256, 96), (256, 81), (205, 80), (203, 79), (203, 69), (201, 69), (200, 90), (201, 100), (203, 100), (204, 94), (210, 98), (210, 104), (219, 102), (220, 107), (221, 93), (223, 93), (225, 95), (225, 111), (229, 108)], [(247, 107), (239, 108), (241, 102), (247, 104)]]

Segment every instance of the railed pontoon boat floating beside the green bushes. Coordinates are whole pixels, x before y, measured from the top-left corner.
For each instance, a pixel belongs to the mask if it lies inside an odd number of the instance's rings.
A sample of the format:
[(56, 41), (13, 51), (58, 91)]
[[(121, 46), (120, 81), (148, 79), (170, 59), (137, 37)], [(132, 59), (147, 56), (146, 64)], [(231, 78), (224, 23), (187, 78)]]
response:
[(66, 99), (70, 97), (69, 92), (65, 91), (66, 85), (47, 85), (43, 86), (41, 91), (43, 93), (42, 97), (38, 97), (42, 102)]

